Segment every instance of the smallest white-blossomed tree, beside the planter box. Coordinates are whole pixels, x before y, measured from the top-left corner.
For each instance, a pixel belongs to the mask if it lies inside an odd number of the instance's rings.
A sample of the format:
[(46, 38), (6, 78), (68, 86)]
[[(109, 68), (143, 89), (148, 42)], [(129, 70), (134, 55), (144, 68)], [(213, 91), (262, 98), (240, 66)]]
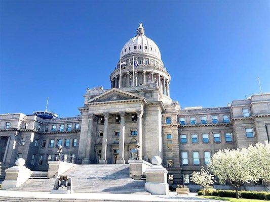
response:
[(204, 195), (205, 189), (210, 188), (211, 185), (214, 184), (213, 179), (214, 175), (210, 174), (209, 171), (204, 169), (204, 167), (202, 167), (201, 172), (193, 172), (190, 178), (192, 182), (195, 182), (204, 188)]

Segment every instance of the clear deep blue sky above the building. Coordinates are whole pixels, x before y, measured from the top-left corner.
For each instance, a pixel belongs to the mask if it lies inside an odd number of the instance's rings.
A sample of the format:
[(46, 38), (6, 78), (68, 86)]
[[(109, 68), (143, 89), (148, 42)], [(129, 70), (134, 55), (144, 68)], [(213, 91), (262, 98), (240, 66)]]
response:
[(182, 107), (270, 92), (269, 1), (1, 1), (0, 113), (80, 114), (140, 22)]

